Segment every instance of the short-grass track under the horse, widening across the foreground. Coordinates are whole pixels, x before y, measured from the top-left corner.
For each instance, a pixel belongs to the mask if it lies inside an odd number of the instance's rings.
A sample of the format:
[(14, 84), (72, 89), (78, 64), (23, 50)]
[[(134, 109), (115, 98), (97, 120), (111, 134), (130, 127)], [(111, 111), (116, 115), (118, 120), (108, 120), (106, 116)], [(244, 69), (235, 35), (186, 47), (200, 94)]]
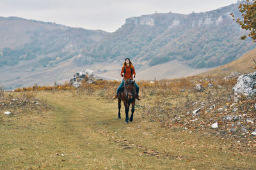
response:
[[(116, 101), (42, 93), (56, 108), (42, 115), (4, 117), (1, 167), (10, 169), (254, 169), (228, 141), (182, 127), (164, 129), (141, 117), (117, 118)], [(143, 102), (141, 102), (143, 104)], [(123, 108), (124, 109), (124, 108)], [(26, 124), (26, 125), (25, 125)], [(19, 127), (19, 131), (15, 131)], [(29, 128), (28, 128), (29, 127)], [(7, 133), (6, 133), (7, 132)], [(15, 138), (13, 138), (13, 135)]]

